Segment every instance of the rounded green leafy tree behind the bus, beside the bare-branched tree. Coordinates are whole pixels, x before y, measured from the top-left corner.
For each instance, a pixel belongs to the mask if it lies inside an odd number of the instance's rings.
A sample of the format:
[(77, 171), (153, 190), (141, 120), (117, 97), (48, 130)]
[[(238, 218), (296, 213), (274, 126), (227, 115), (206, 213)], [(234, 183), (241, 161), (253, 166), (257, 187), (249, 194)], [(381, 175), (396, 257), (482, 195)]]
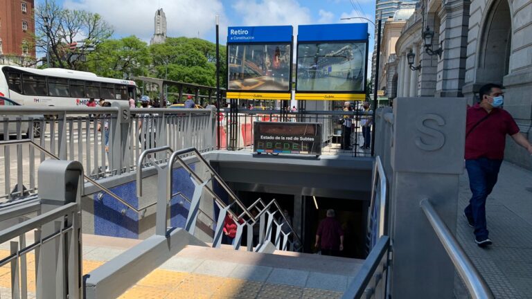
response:
[(131, 78), (145, 75), (152, 60), (148, 44), (138, 37), (108, 39), (98, 51), (87, 55), (87, 71), (108, 78)]

